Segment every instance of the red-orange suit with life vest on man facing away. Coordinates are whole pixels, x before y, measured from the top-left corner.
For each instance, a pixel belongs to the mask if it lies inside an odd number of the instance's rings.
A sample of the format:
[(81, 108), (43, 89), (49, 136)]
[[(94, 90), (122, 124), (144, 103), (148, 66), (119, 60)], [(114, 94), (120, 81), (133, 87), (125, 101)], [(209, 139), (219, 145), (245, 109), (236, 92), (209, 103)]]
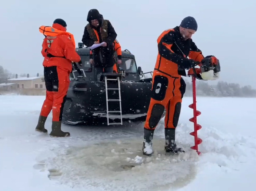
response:
[(65, 27), (55, 23), (52, 27), (41, 26), (39, 31), (45, 35), (41, 53), (46, 86), (46, 99), (40, 115), (48, 117), (53, 110), (53, 121), (61, 121), (72, 62), (80, 62), (81, 58), (75, 51), (73, 35), (66, 32)]

